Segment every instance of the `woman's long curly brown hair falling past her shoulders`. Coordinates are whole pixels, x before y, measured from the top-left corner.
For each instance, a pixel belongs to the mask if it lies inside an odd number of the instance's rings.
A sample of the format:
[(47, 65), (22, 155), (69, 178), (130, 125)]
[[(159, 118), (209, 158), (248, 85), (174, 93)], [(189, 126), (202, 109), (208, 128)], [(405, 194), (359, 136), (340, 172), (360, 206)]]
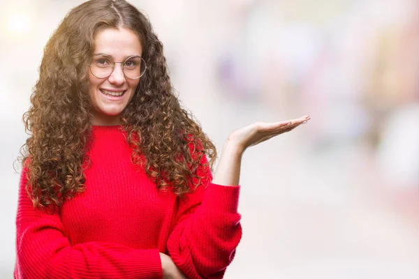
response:
[[(140, 38), (147, 71), (121, 116), (131, 160), (144, 163), (157, 188), (182, 197), (198, 186), (198, 167), (213, 167), (216, 148), (175, 96), (163, 44), (147, 17), (124, 0), (91, 0), (70, 10), (45, 46), (39, 79), (24, 114), (29, 138), (22, 151), (26, 186), (34, 206), (54, 209), (84, 191), (91, 140), (87, 77), (94, 36), (105, 28), (128, 28)], [(144, 156), (145, 162), (138, 158)], [(210, 160), (206, 160), (206, 156)], [(203, 158), (205, 157), (205, 158)]]

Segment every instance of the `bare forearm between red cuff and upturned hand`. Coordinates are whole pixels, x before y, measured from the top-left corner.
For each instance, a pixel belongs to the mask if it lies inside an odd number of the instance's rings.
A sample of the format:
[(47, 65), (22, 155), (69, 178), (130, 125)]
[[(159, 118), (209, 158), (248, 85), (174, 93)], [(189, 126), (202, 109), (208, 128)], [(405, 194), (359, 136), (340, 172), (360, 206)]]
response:
[(242, 149), (237, 144), (227, 140), (223, 146), (223, 151), (221, 151), (212, 183), (224, 186), (239, 185), (242, 153)]

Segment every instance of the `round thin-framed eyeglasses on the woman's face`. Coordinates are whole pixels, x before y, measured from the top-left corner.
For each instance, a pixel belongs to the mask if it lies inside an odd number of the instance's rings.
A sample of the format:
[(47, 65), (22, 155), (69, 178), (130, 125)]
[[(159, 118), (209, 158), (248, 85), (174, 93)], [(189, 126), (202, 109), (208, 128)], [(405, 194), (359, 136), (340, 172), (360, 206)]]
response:
[(122, 63), (122, 72), (130, 79), (139, 79), (144, 75), (147, 65), (141, 56), (129, 56), (124, 62), (113, 61), (112, 58), (105, 54), (94, 56), (89, 64), (90, 73), (98, 78), (106, 78), (112, 74), (115, 63)]

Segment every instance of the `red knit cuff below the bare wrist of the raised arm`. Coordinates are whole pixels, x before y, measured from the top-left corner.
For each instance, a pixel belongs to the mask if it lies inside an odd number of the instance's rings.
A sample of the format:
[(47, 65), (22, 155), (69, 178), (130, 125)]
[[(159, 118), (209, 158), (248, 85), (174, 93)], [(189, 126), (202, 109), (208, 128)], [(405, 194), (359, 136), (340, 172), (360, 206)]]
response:
[(240, 186), (223, 186), (210, 183), (205, 190), (201, 207), (209, 211), (237, 213)]

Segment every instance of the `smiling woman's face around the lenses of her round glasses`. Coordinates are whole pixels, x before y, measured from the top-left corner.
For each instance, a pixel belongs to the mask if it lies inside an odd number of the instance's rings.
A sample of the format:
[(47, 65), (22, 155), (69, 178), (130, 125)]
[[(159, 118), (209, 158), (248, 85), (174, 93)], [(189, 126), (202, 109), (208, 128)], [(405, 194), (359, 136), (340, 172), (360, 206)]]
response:
[[(124, 62), (129, 56), (142, 54), (138, 36), (126, 28), (107, 28), (98, 31), (94, 38), (94, 45), (94, 57), (97, 57), (97, 54), (105, 54), (109, 61)], [(90, 70), (88, 75), (89, 96), (93, 107), (92, 125), (119, 124), (119, 116), (133, 98), (140, 79), (126, 77), (122, 71), (122, 63), (115, 63), (115, 68), (109, 77), (96, 77)]]

